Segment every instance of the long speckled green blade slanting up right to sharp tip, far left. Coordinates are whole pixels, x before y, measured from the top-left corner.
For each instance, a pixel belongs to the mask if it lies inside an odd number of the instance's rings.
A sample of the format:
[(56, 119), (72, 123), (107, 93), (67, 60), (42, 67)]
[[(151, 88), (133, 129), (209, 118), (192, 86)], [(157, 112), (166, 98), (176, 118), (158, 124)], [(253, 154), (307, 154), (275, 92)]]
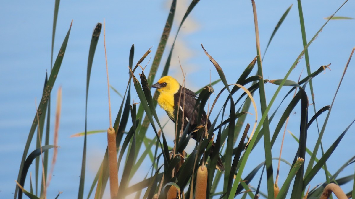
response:
[[(59, 53), (58, 53), (58, 56), (57, 56), (55, 62), (54, 62), (53, 70), (50, 73), (48, 82), (46, 84), (46, 88), (43, 91), (43, 95), (42, 95), (41, 101), (39, 103), (39, 106), (38, 106), (38, 109), (37, 109), (37, 113), (34, 115), (33, 123), (32, 123), (31, 129), (29, 130), (27, 142), (26, 142), (26, 145), (25, 145), (24, 150), (23, 150), (23, 155), (22, 155), (20, 170), (18, 171), (17, 181), (20, 181), (20, 179), (21, 179), (21, 174), (22, 174), (22, 170), (23, 170), (23, 164), (24, 164), (25, 158), (26, 158), (27, 153), (28, 153), (29, 146), (31, 144), (31, 141), (32, 141), (32, 138), (33, 138), (33, 135), (34, 135), (34, 131), (37, 128), (37, 124), (38, 124), (37, 114), (38, 114), (39, 120), (45, 115), (45, 114), (42, 114), (43, 113), (42, 111), (45, 109), (45, 107), (48, 104), (48, 98), (49, 98), (50, 92), (52, 91), (52, 88), (53, 88), (53, 85), (55, 83), (56, 77), (58, 76), (58, 72), (59, 72), (61, 63), (62, 63), (63, 58), (64, 58), (66, 46), (68, 44), (71, 25), (72, 25), (72, 23), (70, 24), (70, 28), (68, 30), (68, 33), (66, 34), (66, 36), (64, 38), (63, 44), (62, 44), (62, 46), (61, 46), (61, 48), (59, 50)], [(18, 187), (16, 186), (14, 199), (16, 199), (17, 190), (18, 190)]]

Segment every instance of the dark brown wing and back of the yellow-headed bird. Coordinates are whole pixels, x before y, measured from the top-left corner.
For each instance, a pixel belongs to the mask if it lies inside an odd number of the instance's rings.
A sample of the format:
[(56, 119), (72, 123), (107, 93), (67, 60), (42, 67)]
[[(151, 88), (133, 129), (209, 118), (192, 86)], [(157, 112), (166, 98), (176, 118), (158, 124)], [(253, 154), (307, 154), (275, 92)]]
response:
[[(181, 96), (180, 96), (180, 91)], [(185, 101), (184, 101), (184, 93), (185, 93)], [(180, 99), (180, 104), (179, 104), (179, 98)], [(185, 102), (185, 103), (184, 103)], [(176, 111), (177, 108), (179, 108), (179, 120), (181, 121), (182, 118), (182, 110), (184, 110), (184, 129), (186, 128), (187, 124), (190, 121), (189, 125), (189, 133), (195, 129), (195, 127), (199, 124), (206, 124), (207, 120), (207, 114), (204, 110), (202, 110), (202, 117), (200, 123), (198, 123), (197, 118), (198, 118), (198, 108), (197, 106), (196, 110), (193, 110), (195, 108), (195, 104), (197, 102), (197, 95), (193, 91), (186, 89), (180, 86), (179, 92), (174, 94), (174, 109)], [(211, 122), (208, 120), (207, 122), (207, 129), (211, 127)], [(194, 135), (192, 135), (192, 138), (196, 139)]]

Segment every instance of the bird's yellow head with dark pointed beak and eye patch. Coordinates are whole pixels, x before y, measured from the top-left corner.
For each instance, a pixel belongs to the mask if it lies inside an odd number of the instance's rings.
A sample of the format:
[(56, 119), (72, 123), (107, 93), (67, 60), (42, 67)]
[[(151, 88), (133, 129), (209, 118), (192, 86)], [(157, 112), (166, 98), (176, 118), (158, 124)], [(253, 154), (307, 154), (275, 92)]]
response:
[(157, 88), (161, 94), (174, 95), (180, 89), (179, 82), (171, 77), (164, 76), (159, 79), (159, 81), (151, 86), (152, 88)]

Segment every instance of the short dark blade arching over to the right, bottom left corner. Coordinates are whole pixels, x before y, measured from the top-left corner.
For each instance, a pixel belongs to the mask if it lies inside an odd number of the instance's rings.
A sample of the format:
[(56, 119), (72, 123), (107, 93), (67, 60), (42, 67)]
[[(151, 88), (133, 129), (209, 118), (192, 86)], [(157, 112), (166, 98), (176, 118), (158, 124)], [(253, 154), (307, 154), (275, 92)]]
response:
[[(24, 186), (24, 182), (26, 180), (26, 176), (27, 176), (27, 172), (28, 172), (28, 169), (29, 169), (29, 166), (32, 164), (32, 161), (38, 157), (40, 154), (42, 154), (43, 152), (53, 148), (55, 146), (53, 145), (47, 145), (47, 146), (43, 146), (42, 149), (41, 148), (37, 148), (35, 149), (32, 153), (30, 153), (28, 155), (28, 157), (26, 158), (26, 161), (24, 162), (23, 164), (23, 170), (22, 170), (22, 173), (21, 173), (21, 178), (20, 178), (20, 185), (23, 187)], [(16, 186), (17, 187), (17, 186)], [(22, 198), (22, 190), (19, 189), (18, 190), (18, 198), (21, 199)]]

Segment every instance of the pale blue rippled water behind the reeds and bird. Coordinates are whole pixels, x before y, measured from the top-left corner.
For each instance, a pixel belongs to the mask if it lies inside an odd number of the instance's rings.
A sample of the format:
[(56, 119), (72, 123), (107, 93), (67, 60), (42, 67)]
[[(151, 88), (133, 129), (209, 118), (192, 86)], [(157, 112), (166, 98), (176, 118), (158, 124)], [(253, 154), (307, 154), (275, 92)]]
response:
[[(97, 1), (62, 1), (60, 3), (54, 58), (58, 54), (72, 19), (73, 26), (58, 79), (52, 92), (52, 104), (54, 104), (58, 86), (62, 86), (60, 149), (54, 176), (48, 188), (48, 198), (55, 198), (58, 191), (63, 192), (60, 198), (77, 197), (83, 138), (70, 138), (70, 135), (84, 130), (87, 56), (95, 24), (103, 22), (105, 18), (110, 84), (123, 93), (128, 80), (127, 66), (131, 45), (135, 44), (135, 63), (151, 46), (153, 46), (151, 55), (154, 57), (166, 17), (168, 16), (170, 3), (170, 1), (104, 1), (101, 3)], [(178, 2), (171, 38), (169, 39), (167, 50), (164, 52), (158, 76), (165, 65), (172, 39), (189, 3), (185, 0)], [(303, 47), (297, 1), (256, 2), (262, 54), (275, 25), (291, 4), (295, 5), (275, 35), (264, 58), (263, 73), (265, 79), (284, 78), (284, 75)], [(341, 1), (303, 1), (308, 40), (326, 22), (324, 17), (331, 16), (341, 4)], [(349, 1), (340, 9), (337, 16), (355, 18), (354, 8), (355, 2)], [(24, 144), (35, 114), (35, 101), (37, 103), (40, 101), (45, 71), (50, 70), (53, 12), (54, 1), (2, 1), (0, 3), (0, 18), (2, 21), (0, 32), (0, 198), (13, 197)], [(348, 61), (352, 48), (355, 46), (354, 27), (354, 20), (331, 21), (309, 47), (312, 72), (322, 65), (332, 63), (330, 66), (331, 71), (327, 70), (325, 74), (321, 73), (313, 80), (317, 110), (330, 105), (332, 102), (344, 66)], [(223, 68), (229, 83), (235, 83), (241, 71), (256, 56), (251, 2), (199, 2), (183, 25), (177, 42), (169, 74), (176, 76), (179, 81), (181, 80), (182, 75), (178, 62), (178, 57), (180, 57), (181, 65), (187, 72), (186, 84), (191, 90), (196, 91), (208, 84), (210, 71), (212, 81), (218, 79), (218, 74), (213, 65), (201, 49), (201, 43)], [(151, 63), (152, 60), (147, 66), (146, 74), (150, 70)], [(147, 64), (147, 60), (143, 62), (143, 65), (145, 64)], [(140, 72), (141, 70), (138, 69), (136, 75)], [(304, 78), (306, 75), (304, 59), (301, 59), (289, 79), (297, 81), (301, 72), (301, 76)], [(346, 72), (324, 133), (323, 146), (325, 149), (328, 149), (332, 142), (355, 118), (353, 103), (354, 74), (353, 60), (350, 62)], [(158, 76), (155, 81), (158, 80)], [(106, 84), (102, 34), (97, 46), (91, 75), (88, 100), (88, 130), (107, 129), (109, 126)], [(222, 88), (222, 84), (215, 85), (214, 88), (219, 91)], [(273, 96), (276, 88), (275, 85), (266, 84), (268, 101)], [(289, 88), (283, 89), (281, 94), (288, 92), (288, 90)], [(310, 96), (309, 89), (307, 93)], [(139, 102), (139, 98), (134, 92), (132, 99), (135, 102)], [(212, 99), (214, 99), (214, 96)], [(288, 101), (290, 101), (290, 98), (288, 98)], [(113, 116), (116, 115), (120, 104), (121, 98), (111, 92)], [(274, 103), (272, 112), (278, 104), (279, 101)], [(213, 114), (217, 114), (221, 106), (221, 104), (218, 104), (218, 108), (215, 109)], [(285, 105), (279, 110), (275, 121), (281, 116), (284, 108)], [(51, 120), (54, 119), (54, 109), (55, 107), (53, 106)], [(158, 108), (158, 111), (162, 121), (167, 121), (168, 118), (164, 111), (160, 108)], [(287, 129), (298, 136), (299, 108), (296, 108), (295, 112), (295, 114), (290, 116)], [(254, 112), (251, 110), (251, 113)], [(310, 117), (312, 115), (313, 107), (310, 107)], [(253, 117), (250, 116), (247, 122), (252, 123)], [(260, 114), (259, 118), (261, 118)], [(325, 115), (321, 117), (321, 123), (324, 118)], [(275, 128), (275, 121), (271, 125), (272, 132)], [(170, 123), (170, 126), (166, 128), (166, 133), (168, 133), (171, 132), (173, 127)], [(51, 131), (53, 131), (53, 125), (51, 126)], [(150, 137), (154, 136), (152, 131), (148, 132), (148, 134)], [(313, 149), (317, 139), (315, 126), (310, 128), (308, 136), (308, 147)], [(52, 138), (53, 136), (50, 138), (51, 143), (53, 143)], [(273, 148), (273, 157), (279, 156), (281, 138), (282, 136), (279, 136), (277, 144)], [(172, 143), (172, 136), (168, 136), (168, 139)], [(338, 149), (328, 160), (328, 169), (331, 173), (337, 171), (340, 165), (355, 155), (354, 140), (354, 127), (351, 127)], [(88, 136), (85, 196), (102, 160), (106, 144), (107, 138), (105, 134)], [(31, 146), (30, 151), (32, 150), (34, 150), (34, 146)], [(291, 138), (289, 133), (286, 133), (282, 157), (291, 162), (296, 150), (297, 143)], [(245, 175), (264, 161), (263, 154), (263, 146), (260, 145), (251, 154), (253, 158), (250, 158), (247, 163)], [(306, 161), (307, 158), (309, 157), (306, 157)], [(273, 163), (276, 168), (277, 161)], [(288, 171), (289, 167), (282, 163), (280, 186), (282, 186)], [(137, 181), (140, 181), (141, 176), (145, 176), (146, 172), (139, 173)], [(351, 174), (354, 174), (354, 165), (345, 169), (340, 176)], [(245, 175), (243, 174), (242, 177), (245, 177)], [(260, 174), (258, 175), (260, 176)], [(315, 180), (310, 183), (310, 186), (313, 188), (323, 183), (323, 181), (324, 174), (320, 172)], [(253, 181), (252, 185), (257, 186), (257, 180)], [(263, 186), (261, 191), (265, 192), (265, 187)], [(29, 189), (28, 181), (25, 188)], [(345, 192), (351, 189), (351, 183), (344, 186)]]

